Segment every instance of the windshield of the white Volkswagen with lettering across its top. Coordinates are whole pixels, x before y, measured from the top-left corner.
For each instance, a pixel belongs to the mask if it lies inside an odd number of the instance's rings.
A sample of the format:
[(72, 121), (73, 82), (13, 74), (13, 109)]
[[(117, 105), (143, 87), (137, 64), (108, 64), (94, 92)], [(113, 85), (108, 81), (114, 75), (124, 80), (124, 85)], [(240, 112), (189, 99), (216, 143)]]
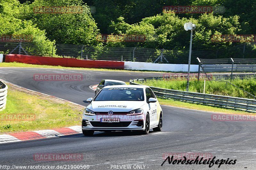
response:
[(143, 88), (105, 88), (94, 101), (143, 101)]

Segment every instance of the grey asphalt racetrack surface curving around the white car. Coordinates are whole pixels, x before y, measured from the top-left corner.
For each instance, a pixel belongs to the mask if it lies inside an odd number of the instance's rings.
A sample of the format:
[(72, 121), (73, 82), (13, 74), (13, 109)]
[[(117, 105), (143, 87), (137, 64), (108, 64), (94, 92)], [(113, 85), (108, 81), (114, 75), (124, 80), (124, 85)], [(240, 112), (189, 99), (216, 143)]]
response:
[[(82, 73), (83, 81), (34, 81), (37, 73)], [(162, 76), (162, 73), (0, 68), (0, 78), (22, 87), (53, 95), (84, 106), (94, 96), (89, 85), (101, 79), (129, 81), (132, 78)], [(218, 122), (211, 112), (162, 106), (163, 131), (148, 135), (131, 132), (95, 132), (33, 141), (0, 144), (1, 165), (58, 166), (90, 165), (89, 169), (114, 169), (113, 165), (141, 165), (144, 169), (255, 169), (255, 121)], [(35, 161), (35, 153), (82, 153), (81, 161)], [(235, 165), (163, 166), (164, 153), (209, 153), (216, 159), (236, 159)], [(112, 167), (112, 168), (111, 168)], [(0, 168), (3, 169), (3, 168)], [(56, 168), (55, 168), (56, 169)], [(123, 168), (124, 169), (124, 168)]]

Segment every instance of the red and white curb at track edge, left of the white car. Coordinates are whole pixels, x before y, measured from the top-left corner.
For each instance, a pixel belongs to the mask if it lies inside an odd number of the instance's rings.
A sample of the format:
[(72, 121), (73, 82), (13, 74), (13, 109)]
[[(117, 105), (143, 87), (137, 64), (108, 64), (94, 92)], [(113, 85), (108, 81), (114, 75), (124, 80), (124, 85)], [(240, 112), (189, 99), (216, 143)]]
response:
[(35, 139), (44, 139), (49, 137), (60, 137), (65, 135), (74, 135), (82, 133), (81, 126), (70, 126), (59, 129), (35, 130), (31, 132), (20, 132), (0, 135), (0, 144), (10, 142), (20, 142)]

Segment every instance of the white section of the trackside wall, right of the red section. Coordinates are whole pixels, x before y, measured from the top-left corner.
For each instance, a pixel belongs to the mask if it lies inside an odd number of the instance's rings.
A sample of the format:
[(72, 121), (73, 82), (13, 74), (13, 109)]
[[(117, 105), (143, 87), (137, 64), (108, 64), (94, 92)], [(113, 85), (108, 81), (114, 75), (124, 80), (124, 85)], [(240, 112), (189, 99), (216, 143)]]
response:
[[(188, 64), (157, 64), (143, 62), (124, 62), (124, 70), (152, 70), (152, 71), (188, 71)], [(190, 65), (191, 72), (198, 71), (198, 65)]]

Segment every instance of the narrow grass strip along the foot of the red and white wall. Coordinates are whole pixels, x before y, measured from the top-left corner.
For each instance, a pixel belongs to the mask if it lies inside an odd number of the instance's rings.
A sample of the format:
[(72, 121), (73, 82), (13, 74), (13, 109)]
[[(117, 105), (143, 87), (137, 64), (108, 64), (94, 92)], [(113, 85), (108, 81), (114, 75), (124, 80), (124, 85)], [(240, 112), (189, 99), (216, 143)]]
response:
[(0, 63), (0, 67), (27, 67), (27, 68), (52, 68), (52, 69), (70, 69), (70, 70), (97, 70), (97, 71), (124, 71), (124, 72), (156, 72), (156, 73), (171, 73), (170, 71), (148, 71), (148, 70), (118, 70), (118, 69), (97, 69), (97, 68), (81, 68), (81, 67), (62, 67), (51, 65), (36, 65), (25, 63)]

